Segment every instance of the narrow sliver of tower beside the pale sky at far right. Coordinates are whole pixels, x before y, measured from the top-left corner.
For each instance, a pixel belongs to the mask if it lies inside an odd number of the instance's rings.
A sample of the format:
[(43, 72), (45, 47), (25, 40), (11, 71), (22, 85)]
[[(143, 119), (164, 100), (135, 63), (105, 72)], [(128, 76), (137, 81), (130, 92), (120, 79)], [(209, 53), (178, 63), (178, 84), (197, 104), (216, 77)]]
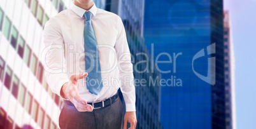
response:
[(234, 48), (232, 43), (231, 24), (228, 11), (224, 11), (224, 59), (226, 128), (236, 129)]

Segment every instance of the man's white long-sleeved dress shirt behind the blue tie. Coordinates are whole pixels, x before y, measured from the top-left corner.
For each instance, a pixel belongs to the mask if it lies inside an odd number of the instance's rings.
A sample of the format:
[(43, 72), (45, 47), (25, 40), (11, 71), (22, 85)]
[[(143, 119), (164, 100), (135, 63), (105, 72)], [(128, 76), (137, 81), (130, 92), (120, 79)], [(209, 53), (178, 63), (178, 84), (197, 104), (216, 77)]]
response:
[[(72, 74), (86, 72), (83, 34), (85, 11), (72, 3), (70, 9), (61, 11), (45, 24), (42, 63), (46, 82), (57, 95), (60, 95), (62, 85), (69, 81)], [(99, 95), (90, 93), (85, 78), (80, 79), (78, 92), (87, 102), (100, 102), (115, 95), (120, 87), (126, 111), (136, 111), (131, 54), (122, 20), (114, 13), (97, 8), (95, 4), (89, 11), (99, 48), (103, 88)]]

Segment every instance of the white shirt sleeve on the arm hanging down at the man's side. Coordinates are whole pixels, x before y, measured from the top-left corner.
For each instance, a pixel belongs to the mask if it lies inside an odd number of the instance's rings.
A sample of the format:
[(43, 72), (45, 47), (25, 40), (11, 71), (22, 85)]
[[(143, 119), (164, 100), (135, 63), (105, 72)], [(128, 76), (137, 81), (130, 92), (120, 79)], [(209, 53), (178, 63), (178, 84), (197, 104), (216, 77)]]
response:
[(120, 71), (120, 81), (122, 82), (120, 90), (123, 93), (125, 100), (126, 111), (136, 111), (135, 107), (135, 87), (134, 76), (131, 63), (131, 53), (126, 39), (124, 24), (120, 17), (118, 17), (118, 36), (115, 43), (115, 50), (118, 55), (118, 68)]

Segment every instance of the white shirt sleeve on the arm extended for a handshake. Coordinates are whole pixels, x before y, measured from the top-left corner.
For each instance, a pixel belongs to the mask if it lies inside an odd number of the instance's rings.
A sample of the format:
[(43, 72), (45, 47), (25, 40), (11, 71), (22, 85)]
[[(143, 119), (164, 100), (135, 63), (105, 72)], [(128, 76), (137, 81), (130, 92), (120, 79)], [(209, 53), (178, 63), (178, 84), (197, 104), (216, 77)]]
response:
[(50, 19), (45, 24), (43, 31), (43, 43), (41, 59), (45, 69), (45, 79), (53, 93), (60, 96), (60, 89), (69, 81), (65, 73), (64, 42), (60, 32), (60, 26), (55, 20)]

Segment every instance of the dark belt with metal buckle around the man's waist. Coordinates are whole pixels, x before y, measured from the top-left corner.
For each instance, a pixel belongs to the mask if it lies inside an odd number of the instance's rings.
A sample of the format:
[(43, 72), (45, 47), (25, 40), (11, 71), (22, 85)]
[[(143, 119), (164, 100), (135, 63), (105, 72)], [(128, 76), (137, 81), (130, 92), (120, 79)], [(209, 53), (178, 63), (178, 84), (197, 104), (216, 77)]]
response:
[[(119, 95), (118, 95), (118, 92), (117, 92), (115, 95), (113, 95), (113, 97), (110, 97), (106, 100), (103, 100), (101, 102), (96, 102), (96, 103), (94, 103), (94, 102), (90, 103), (89, 102), (87, 104), (92, 105), (93, 109), (100, 109), (101, 107), (108, 107), (109, 105), (113, 104), (114, 102), (116, 102), (115, 100), (117, 100), (118, 97), (119, 97)], [(75, 107), (75, 105), (72, 102), (70, 102), (69, 100), (64, 100), (64, 103), (68, 104), (68, 105), (72, 105), (72, 106)]]

